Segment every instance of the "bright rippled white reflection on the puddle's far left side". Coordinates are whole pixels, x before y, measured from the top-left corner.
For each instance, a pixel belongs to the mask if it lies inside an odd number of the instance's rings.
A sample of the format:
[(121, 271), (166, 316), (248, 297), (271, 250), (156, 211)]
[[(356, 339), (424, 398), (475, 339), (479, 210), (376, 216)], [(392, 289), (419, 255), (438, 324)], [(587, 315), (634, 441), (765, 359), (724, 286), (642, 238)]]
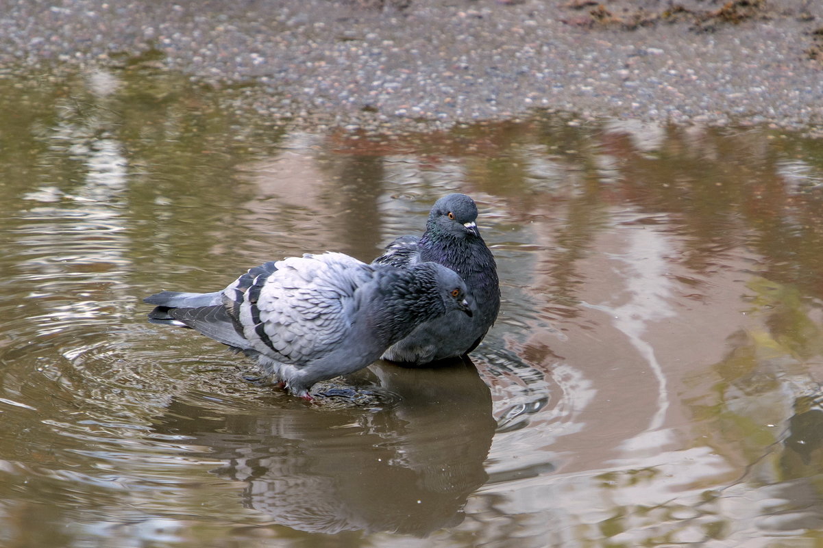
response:
[[(123, 192), (127, 188), (127, 160), (123, 145), (113, 135), (116, 116), (110, 112), (109, 94), (117, 88), (114, 76), (96, 72), (87, 80), (98, 107), (84, 113), (73, 98), (54, 105), (53, 126), (40, 136), (47, 158), (61, 159), (79, 168), (77, 179), (55, 186), (54, 179), (24, 194), (25, 210), (14, 228), (15, 247), (22, 271), (32, 288), (38, 313), (28, 320), (41, 326), (40, 334), (70, 329), (78, 320), (95, 320), (109, 314), (97, 288), (124, 288), (128, 260), (124, 233)], [(85, 290), (85, 291), (84, 291)], [(80, 297), (80, 298), (77, 298)], [(86, 298), (83, 298), (86, 297)]]

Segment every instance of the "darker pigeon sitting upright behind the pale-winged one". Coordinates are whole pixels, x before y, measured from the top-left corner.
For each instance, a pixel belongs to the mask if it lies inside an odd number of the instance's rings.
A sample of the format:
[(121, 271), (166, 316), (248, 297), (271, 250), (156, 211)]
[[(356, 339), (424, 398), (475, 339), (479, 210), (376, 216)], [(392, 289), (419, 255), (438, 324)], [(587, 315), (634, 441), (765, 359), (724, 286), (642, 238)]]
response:
[(477, 205), (465, 194), (449, 194), (435, 202), (422, 237), (398, 237), (372, 265), (408, 268), (424, 261), (460, 274), (468, 288), (474, 315), (443, 315), (429, 320), (393, 344), (386, 360), (421, 365), (472, 352), (486, 336), (500, 310), (500, 283), (491, 251), (477, 230)]

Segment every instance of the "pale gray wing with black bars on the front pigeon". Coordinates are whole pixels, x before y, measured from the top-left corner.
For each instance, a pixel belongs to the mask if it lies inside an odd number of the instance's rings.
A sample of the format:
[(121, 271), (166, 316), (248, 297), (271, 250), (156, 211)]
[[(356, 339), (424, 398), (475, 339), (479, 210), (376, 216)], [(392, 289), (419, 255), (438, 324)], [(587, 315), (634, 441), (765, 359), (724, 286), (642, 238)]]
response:
[(258, 352), (302, 366), (332, 352), (374, 269), (342, 253), (290, 257), (249, 270), (223, 291), (235, 327)]

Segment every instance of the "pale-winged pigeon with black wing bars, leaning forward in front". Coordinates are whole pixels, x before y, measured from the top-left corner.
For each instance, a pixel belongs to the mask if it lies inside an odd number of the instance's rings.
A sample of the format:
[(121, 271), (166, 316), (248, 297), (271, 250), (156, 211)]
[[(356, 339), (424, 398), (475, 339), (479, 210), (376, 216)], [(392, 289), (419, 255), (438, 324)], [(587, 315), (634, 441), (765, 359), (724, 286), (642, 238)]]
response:
[(424, 262), (366, 265), (342, 253), (290, 257), (249, 269), (222, 291), (146, 297), (153, 323), (183, 325), (256, 357), (292, 394), (377, 360), (417, 325), (471, 315), (466, 285)]

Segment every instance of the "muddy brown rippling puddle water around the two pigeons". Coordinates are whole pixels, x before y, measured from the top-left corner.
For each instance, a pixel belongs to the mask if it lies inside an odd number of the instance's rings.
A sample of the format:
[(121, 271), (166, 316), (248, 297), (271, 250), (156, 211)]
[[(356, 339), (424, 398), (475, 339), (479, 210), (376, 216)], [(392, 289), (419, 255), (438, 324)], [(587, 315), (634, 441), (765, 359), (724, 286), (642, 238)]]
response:
[[(276, 126), (151, 69), (0, 79), (0, 545), (817, 546), (823, 143), (570, 117)], [(158, 289), (363, 260), (473, 196), (472, 362), (305, 403)], [(513, 544), (514, 543), (514, 544)]]

